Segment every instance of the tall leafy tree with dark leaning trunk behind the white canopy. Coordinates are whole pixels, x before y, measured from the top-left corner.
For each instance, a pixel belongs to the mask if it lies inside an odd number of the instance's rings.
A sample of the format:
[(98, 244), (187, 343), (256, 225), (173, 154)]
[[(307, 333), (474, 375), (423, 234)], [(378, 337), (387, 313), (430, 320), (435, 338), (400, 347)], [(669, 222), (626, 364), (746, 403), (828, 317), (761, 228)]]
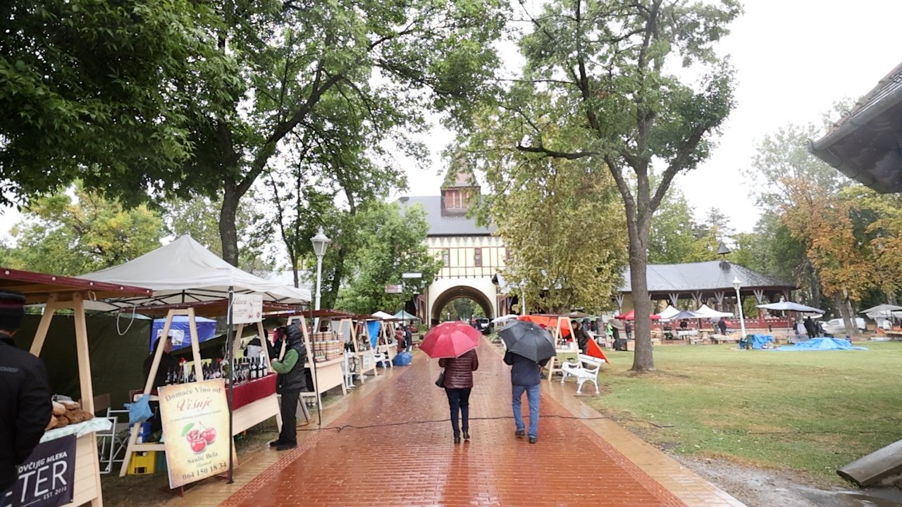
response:
[[(180, 182), (222, 196), (223, 256), (237, 262), (235, 214), (293, 136), (317, 124), (327, 97), (374, 123), (419, 126), (430, 109), (454, 112), (496, 64), (498, 0), (226, 2), (220, 32), (246, 93), (192, 112), (197, 146)], [(377, 119), (378, 118), (378, 119)], [(378, 142), (378, 140), (377, 140)]]

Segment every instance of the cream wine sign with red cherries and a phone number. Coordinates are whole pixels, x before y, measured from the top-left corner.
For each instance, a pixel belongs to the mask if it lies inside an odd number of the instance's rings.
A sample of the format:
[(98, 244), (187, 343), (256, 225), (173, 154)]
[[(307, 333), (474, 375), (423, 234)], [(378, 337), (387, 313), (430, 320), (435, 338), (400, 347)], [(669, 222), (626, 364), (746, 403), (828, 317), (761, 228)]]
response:
[(226, 381), (166, 385), (160, 390), (170, 488), (228, 470)]

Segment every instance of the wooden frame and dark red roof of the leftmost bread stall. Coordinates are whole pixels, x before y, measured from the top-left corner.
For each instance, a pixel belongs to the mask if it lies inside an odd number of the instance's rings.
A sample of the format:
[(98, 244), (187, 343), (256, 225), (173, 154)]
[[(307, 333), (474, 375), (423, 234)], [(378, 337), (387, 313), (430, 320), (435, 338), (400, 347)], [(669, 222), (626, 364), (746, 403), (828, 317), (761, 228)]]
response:
[[(111, 297), (151, 296), (152, 290), (141, 287), (90, 281), (68, 276), (57, 276), (38, 272), (25, 272), (0, 268), (0, 288), (19, 290), (25, 295), (25, 303), (46, 303), (41, 323), (32, 341), (32, 355), (40, 356), (41, 349), (50, 329), (51, 318), (57, 310), (73, 312), (75, 321), (75, 342), (78, 355), (78, 383), (81, 388), (82, 410), (94, 413), (94, 387), (91, 381), (91, 362), (87, 346), (87, 324), (85, 321), (85, 299)], [(56, 344), (51, 344), (55, 346)], [(47, 365), (50, 369), (51, 365)], [(94, 419), (92, 419), (94, 420)], [(90, 422), (90, 421), (88, 421)], [(97, 423), (95, 423), (97, 424)], [(100, 463), (97, 456), (97, 429), (79, 432), (76, 440), (75, 477), (73, 479), (72, 502), (66, 505), (103, 505), (100, 489)]]

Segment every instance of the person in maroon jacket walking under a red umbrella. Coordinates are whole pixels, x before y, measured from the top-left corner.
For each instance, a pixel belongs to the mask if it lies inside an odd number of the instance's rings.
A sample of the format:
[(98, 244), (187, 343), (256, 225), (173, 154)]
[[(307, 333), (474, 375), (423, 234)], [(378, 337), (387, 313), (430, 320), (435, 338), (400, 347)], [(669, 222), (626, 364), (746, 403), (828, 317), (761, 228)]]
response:
[(454, 443), (459, 444), (461, 430), (464, 439), (470, 439), (470, 392), (473, 391), (473, 373), (479, 369), (476, 346), (480, 333), (461, 322), (445, 322), (429, 329), (419, 349), (429, 357), (438, 358), (438, 365), (445, 368), (445, 393), (451, 411), (451, 429)]

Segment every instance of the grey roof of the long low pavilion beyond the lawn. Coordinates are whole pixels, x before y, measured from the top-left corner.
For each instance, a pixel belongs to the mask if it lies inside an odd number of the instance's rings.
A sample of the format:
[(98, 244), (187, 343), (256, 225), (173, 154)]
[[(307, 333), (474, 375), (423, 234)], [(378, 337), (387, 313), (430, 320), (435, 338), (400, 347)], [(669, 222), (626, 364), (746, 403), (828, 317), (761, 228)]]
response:
[[(724, 261), (685, 264), (649, 264), (649, 292), (690, 292), (733, 290), (732, 281), (739, 278), (742, 290), (792, 290), (796, 286), (739, 264)], [(632, 292), (630, 268), (623, 272), (621, 292)]]

